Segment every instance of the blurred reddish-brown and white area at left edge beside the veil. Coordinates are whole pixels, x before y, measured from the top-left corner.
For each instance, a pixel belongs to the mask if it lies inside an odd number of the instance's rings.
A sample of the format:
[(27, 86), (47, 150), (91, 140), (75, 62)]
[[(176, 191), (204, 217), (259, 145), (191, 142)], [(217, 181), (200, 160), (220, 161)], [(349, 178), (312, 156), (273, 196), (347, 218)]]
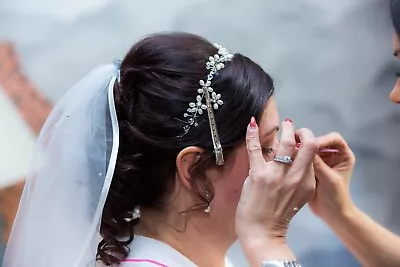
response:
[(12, 44), (0, 42), (0, 261), (18, 208), (35, 135), (51, 106), (24, 75)]

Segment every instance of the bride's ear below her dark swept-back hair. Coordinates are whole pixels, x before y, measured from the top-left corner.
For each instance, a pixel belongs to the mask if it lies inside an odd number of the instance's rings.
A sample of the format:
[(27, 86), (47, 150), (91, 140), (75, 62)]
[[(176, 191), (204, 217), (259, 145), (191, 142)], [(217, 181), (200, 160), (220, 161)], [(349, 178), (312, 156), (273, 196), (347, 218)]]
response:
[(199, 161), (202, 153), (204, 153), (204, 149), (190, 146), (181, 150), (176, 157), (177, 176), (181, 183), (187, 188), (192, 188), (192, 183), (190, 182), (191, 170)]

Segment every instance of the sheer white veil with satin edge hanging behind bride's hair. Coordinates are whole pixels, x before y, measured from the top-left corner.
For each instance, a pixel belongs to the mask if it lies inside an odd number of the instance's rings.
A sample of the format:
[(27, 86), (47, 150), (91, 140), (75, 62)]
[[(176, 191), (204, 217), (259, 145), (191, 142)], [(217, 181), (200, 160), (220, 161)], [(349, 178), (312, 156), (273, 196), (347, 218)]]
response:
[(118, 64), (97, 67), (57, 103), (37, 142), (3, 267), (96, 266), (119, 131)]

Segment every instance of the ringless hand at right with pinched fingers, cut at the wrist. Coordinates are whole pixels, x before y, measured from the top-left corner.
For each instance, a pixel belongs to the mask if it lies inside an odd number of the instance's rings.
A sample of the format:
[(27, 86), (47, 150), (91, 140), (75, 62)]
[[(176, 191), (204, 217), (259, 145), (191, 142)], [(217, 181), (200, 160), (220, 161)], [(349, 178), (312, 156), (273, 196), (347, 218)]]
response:
[(321, 149), (335, 148), (338, 153), (320, 154), (314, 160), (317, 188), (309, 205), (313, 212), (330, 223), (351, 212), (354, 205), (350, 197), (350, 178), (355, 157), (346, 141), (338, 133), (317, 138)]

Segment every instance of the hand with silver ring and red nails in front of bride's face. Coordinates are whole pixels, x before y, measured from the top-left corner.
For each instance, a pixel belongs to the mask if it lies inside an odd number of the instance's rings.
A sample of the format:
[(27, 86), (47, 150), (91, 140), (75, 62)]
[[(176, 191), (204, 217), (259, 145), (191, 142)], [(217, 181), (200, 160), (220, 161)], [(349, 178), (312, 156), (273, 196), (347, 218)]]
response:
[(310, 130), (296, 132), (294, 125), (285, 121), (276, 156), (293, 157), (296, 139), (302, 145), (292, 164), (266, 162), (254, 119), (247, 129), (250, 171), (237, 208), (236, 232), (254, 266), (262, 260), (294, 258), (286, 245), (286, 231), (290, 220), (314, 195), (312, 163), (318, 151), (317, 140)]

